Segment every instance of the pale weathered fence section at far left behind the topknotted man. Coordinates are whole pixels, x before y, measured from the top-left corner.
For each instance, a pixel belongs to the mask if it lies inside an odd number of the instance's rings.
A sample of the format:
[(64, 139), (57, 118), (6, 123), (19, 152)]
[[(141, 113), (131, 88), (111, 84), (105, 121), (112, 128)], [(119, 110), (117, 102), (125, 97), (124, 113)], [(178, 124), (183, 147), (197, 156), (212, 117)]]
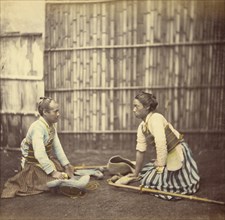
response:
[(37, 101), (44, 95), (43, 40), (40, 33), (0, 35), (0, 146), (19, 149), (37, 118)]

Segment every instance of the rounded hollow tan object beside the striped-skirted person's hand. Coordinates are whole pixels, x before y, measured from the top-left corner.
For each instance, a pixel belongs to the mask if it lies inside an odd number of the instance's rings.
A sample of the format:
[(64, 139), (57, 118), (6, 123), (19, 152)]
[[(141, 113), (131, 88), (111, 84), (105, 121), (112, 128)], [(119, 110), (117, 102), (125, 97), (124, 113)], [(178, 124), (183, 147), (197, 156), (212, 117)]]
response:
[(112, 175), (126, 175), (128, 173), (134, 173), (135, 165), (129, 159), (123, 158), (120, 155), (116, 155), (109, 159), (107, 169)]

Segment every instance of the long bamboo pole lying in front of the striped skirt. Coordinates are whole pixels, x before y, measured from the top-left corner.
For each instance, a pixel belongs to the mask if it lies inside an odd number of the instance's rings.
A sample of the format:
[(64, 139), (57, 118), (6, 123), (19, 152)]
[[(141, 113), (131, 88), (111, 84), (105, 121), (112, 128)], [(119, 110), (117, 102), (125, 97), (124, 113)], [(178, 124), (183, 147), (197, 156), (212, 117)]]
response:
[(215, 204), (219, 204), (219, 205), (225, 205), (225, 202), (222, 202), (222, 201), (216, 201), (216, 200), (207, 199), (207, 198), (200, 198), (200, 197), (192, 196), (192, 195), (190, 196), (190, 195), (184, 195), (184, 194), (178, 194), (178, 193), (172, 193), (172, 192), (165, 192), (165, 191), (156, 190), (156, 189), (144, 188), (143, 186), (138, 187), (138, 186), (116, 184), (116, 183), (113, 183), (110, 180), (108, 180), (108, 184), (111, 185), (111, 186), (126, 188), (126, 189), (133, 189), (133, 190), (137, 190), (137, 191), (140, 191), (140, 192), (164, 194), (164, 195), (180, 197), (180, 198), (184, 198), (184, 199), (190, 199), (190, 200), (196, 200), (196, 201), (202, 201), (202, 202), (215, 203)]

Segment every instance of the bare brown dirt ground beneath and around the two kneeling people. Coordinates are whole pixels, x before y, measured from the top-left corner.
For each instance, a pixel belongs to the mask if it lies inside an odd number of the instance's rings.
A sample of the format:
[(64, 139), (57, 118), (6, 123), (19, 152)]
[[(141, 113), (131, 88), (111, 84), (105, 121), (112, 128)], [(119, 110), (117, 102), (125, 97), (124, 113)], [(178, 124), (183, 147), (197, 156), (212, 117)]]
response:
[[(18, 170), (20, 152), (1, 151), (1, 191), (4, 182)], [(201, 187), (196, 196), (225, 201), (225, 150), (193, 152), (197, 161)], [(135, 160), (134, 153), (90, 152), (69, 154), (75, 165), (105, 165), (120, 154)], [(224, 220), (225, 206), (187, 199), (164, 201), (151, 194), (109, 186), (107, 171), (96, 190), (82, 198), (43, 193), (29, 197), (0, 200), (1, 220)]]

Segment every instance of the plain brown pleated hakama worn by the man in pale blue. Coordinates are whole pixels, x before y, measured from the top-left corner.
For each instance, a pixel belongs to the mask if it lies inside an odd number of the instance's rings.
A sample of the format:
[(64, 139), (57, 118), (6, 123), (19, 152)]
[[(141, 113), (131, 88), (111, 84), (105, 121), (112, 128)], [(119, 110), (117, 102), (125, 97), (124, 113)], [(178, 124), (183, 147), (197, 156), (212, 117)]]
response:
[[(58, 160), (55, 158), (51, 158), (51, 160), (58, 171), (63, 171)], [(26, 163), (19, 173), (7, 180), (1, 198), (35, 195), (49, 191), (46, 184), (52, 180), (54, 180), (54, 178), (47, 175), (36, 164)]]

